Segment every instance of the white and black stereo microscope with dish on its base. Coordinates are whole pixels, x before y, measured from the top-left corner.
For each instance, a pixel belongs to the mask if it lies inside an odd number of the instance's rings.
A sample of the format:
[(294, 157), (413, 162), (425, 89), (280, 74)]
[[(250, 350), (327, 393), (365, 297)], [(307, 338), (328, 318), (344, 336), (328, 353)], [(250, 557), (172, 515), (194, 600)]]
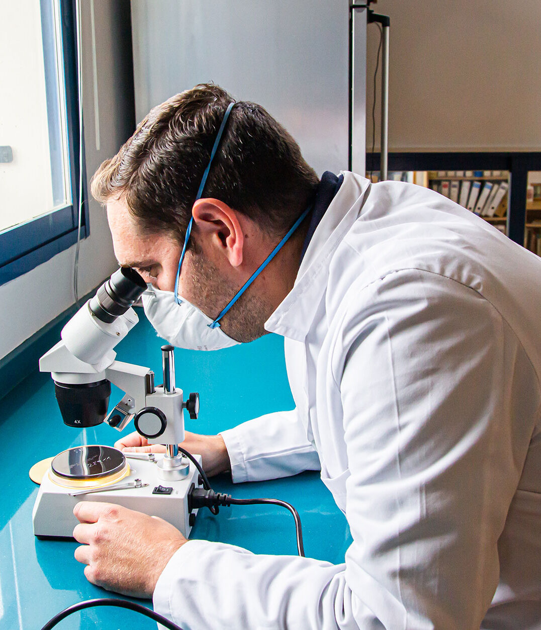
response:
[[(61, 341), (40, 358), (50, 372), (65, 425), (102, 422), (122, 431), (130, 420), (149, 444), (165, 453), (123, 453), (104, 445), (64, 450), (43, 476), (32, 513), (37, 537), (72, 537), (79, 501), (117, 503), (164, 518), (188, 537), (197, 510), (188, 494), (202, 486), (196, 466), (178, 450), (184, 440), (184, 410), (197, 418), (199, 395), (187, 400), (175, 385), (173, 346), (162, 346), (163, 384), (147, 367), (115, 360), (113, 348), (139, 321), (132, 306), (147, 288), (134, 269), (113, 273), (65, 324)], [(111, 382), (125, 395), (108, 412)], [(201, 462), (200, 455), (195, 459)]]

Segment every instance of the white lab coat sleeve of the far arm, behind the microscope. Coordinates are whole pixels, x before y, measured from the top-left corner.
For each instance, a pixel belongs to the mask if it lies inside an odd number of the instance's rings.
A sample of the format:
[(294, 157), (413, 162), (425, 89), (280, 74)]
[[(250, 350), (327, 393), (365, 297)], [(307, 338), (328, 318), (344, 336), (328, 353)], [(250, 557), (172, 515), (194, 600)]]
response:
[(234, 483), (278, 479), (319, 470), (297, 410), (278, 411), (222, 431)]

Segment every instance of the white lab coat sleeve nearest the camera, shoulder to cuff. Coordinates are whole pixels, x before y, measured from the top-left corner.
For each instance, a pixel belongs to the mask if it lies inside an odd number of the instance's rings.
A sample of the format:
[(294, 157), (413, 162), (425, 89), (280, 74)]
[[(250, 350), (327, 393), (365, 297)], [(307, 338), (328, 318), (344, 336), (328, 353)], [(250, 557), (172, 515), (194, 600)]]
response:
[(182, 627), (479, 629), (520, 474), (505, 421), (512, 335), (436, 274), (395, 273), (361, 294), (329, 365), (350, 470), (345, 564), (187, 542), (154, 592)]

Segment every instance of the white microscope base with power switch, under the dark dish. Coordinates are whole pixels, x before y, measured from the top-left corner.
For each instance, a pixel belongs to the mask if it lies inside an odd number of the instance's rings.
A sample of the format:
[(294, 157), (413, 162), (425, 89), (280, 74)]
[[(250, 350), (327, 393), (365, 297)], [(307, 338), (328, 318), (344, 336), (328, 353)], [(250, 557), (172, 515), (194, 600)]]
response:
[[(201, 462), (200, 455), (195, 455), (195, 457)], [(43, 476), (32, 512), (34, 535), (40, 538), (72, 538), (73, 528), (79, 522), (73, 515), (75, 505), (79, 501), (101, 501), (103, 503), (116, 503), (130, 510), (161, 517), (188, 538), (191, 530), (190, 516), (192, 513), (194, 515), (197, 513), (197, 510), (188, 512), (188, 491), (191, 484), (194, 484), (196, 488), (201, 486), (198, 483), (199, 473), (196, 467), (190, 462), (188, 474), (183, 479), (163, 481), (158, 476), (157, 464), (147, 461), (133, 461), (133, 466), (130, 474), (123, 478), (120, 483), (141, 479), (142, 483), (148, 484), (148, 486), (128, 488), (127, 490), (107, 490), (105, 487), (103, 491), (79, 496), (70, 496), (70, 492), (77, 492), (77, 490), (61, 488), (46, 473)], [(157, 486), (166, 486), (173, 488), (173, 490), (170, 495), (152, 494)], [(191, 517), (192, 522), (193, 518)]]

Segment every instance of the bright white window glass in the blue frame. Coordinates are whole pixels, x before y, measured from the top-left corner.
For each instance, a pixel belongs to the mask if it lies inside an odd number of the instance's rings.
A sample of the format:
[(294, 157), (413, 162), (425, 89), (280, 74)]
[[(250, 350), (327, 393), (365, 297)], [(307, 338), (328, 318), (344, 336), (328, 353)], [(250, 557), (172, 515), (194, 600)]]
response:
[(72, 203), (59, 0), (2, 13), (0, 232)]

